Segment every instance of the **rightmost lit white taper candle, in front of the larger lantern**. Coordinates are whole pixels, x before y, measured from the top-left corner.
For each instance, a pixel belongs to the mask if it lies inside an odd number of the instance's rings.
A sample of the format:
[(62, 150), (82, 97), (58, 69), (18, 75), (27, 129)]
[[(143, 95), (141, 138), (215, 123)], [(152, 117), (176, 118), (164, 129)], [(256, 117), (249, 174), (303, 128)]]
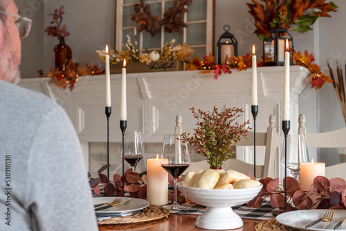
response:
[(284, 107), (282, 120), (290, 120), (289, 61), (289, 40), (286, 39), (286, 52), (284, 53)]

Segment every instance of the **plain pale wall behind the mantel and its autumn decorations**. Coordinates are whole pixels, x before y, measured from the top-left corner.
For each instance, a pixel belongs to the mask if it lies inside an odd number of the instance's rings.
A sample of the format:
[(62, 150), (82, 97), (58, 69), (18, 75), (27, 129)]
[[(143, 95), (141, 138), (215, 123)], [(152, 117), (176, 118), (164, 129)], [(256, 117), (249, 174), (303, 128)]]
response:
[[(194, 0), (198, 1), (198, 0)], [(73, 59), (80, 64), (98, 62), (95, 50), (114, 44), (115, 5), (114, 0), (15, 0), (19, 10), (34, 19), (33, 31), (23, 40), (22, 75), (37, 77), (37, 70), (48, 73), (53, 62), (53, 48), (58, 43), (55, 37), (47, 36), (44, 29), (49, 26), (55, 8), (65, 6), (64, 21), (71, 33), (66, 37), (66, 44), (73, 50)], [(44, 2), (44, 3), (42, 3)], [(248, 13), (246, 3), (250, 0), (216, 0), (215, 41), (224, 33), (223, 27), (228, 24), (239, 43), (238, 54), (251, 53), (255, 44), (257, 55), (262, 55), (262, 42), (253, 34), (255, 29), (253, 17)], [(338, 12), (331, 12), (331, 18), (318, 19), (314, 30), (304, 34), (292, 32), (295, 50), (308, 50), (317, 55), (316, 62), (322, 71), (328, 73), (326, 59), (338, 56), (345, 60), (345, 19), (346, 1), (334, 0)], [(31, 14), (30, 14), (31, 13)], [(331, 84), (325, 84), (320, 91), (307, 86), (299, 99), (293, 103), (300, 104), (300, 113), (307, 117), (307, 131), (328, 131), (344, 127), (343, 117)], [(293, 121), (297, 122), (297, 121)], [(329, 159), (329, 158), (328, 158)], [(336, 161), (336, 154), (331, 158)]]

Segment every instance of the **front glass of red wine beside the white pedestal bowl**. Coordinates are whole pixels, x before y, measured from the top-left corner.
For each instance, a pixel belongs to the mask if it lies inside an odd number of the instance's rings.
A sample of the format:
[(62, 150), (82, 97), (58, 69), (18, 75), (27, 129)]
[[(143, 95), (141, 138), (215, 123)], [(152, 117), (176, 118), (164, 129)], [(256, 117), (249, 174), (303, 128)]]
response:
[(161, 166), (174, 180), (174, 201), (170, 210), (181, 210), (185, 206), (176, 202), (176, 179), (190, 166), (188, 145), (183, 142), (181, 135), (165, 135), (163, 138), (163, 149)]

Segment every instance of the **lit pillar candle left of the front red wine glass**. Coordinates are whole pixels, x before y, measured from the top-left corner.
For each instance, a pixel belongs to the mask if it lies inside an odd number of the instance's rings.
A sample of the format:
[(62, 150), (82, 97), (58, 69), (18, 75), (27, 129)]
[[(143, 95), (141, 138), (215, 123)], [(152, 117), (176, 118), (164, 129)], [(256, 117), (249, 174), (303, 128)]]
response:
[[(168, 159), (163, 159), (168, 164)], [(161, 167), (161, 159), (147, 159), (147, 201), (154, 205), (168, 203), (168, 173)]]

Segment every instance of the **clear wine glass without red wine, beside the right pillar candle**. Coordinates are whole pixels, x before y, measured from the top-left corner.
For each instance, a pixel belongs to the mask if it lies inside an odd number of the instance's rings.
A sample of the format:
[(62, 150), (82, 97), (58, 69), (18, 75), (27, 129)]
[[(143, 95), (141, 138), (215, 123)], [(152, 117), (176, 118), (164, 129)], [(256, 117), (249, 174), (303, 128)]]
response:
[[(284, 166), (284, 148), (282, 145), (281, 164)], [(294, 177), (300, 174), (300, 163), (309, 162), (305, 134), (289, 134), (287, 136), (287, 170)]]

